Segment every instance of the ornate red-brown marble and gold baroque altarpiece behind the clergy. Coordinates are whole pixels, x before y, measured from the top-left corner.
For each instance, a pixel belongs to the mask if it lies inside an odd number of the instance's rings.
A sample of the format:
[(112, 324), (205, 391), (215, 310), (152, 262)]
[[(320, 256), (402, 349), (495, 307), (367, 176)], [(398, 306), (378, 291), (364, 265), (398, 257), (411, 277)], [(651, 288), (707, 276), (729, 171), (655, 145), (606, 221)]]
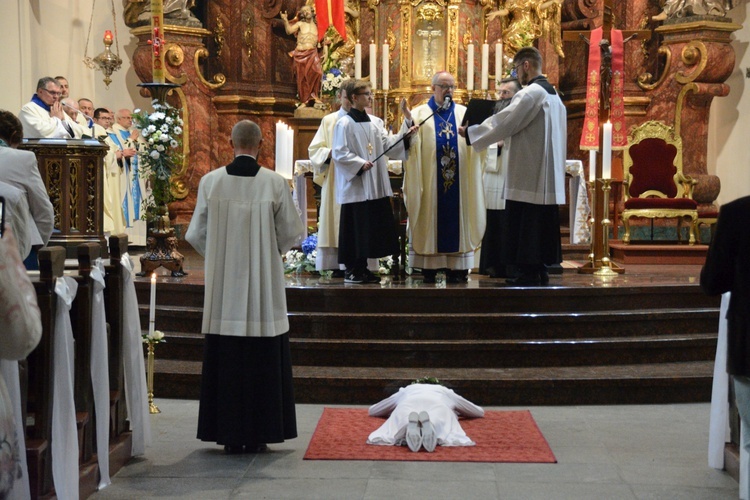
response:
[[(354, 44), (361, 52), (361, 72), (369, 77), (372, 43), (377, 48), (374, 113), (396, 123), (398, 102), (412, 105), (431, 94), (436, 71), (456, 76), (455, 99), (494, 98), (498, 76), (495, 52), (503, 42), (503, 65), (510, 69), (514, 43), (533, 44), (544, 56), (544, 72), (557, 86), (568, 110), (568, 156), (583, 159), (579, 150), (588, 46), (563, 41), (565, 31), (591, 30), (602, 24), (602, 0), (345, 0), (348, 37), (337, 45), (342, 66), (352, 61)], [(670, 3), (671, 0), (667, 0)], [(165, 2), (166, 4), (167, 2)], [(240, 119), (257, 121), (264, 132), (263, 165), (274, 167), (274, 124), (295, 120), (296, 78), (290, 53), (297, 40), (287, 34), (281, 14), (293, 20), (302, 0), (204, 0), (185, 4), (165, 17), (167, 81), (178, 83), (170, 100), (185, 119), (185, 163), (174, 178), (177, 201), (170, 208), (178, 224), (190, 220), (198, 182), (203, 174), (231, 161), (231, 128)], [(662, 11), (659, 0), (613, 2), (613, 25), (621, 30), (647, 30), (625, 45), (625, 115), (627, 127), (648, 120), (673, 126), (683, 139), (684, 172), (698, 181), (694, 196), (712, 207), (719, 179), (706, 165), (711, 101), (729, 93), (724, 83), (734, 69), (731, 33), (740, 28), (724, 15), (652, 17)], [(314, 5), (314, 2), (310, 2)], [(545, 4), (541, 11), (539, 6)], [(190, 11), (187, 10), (190, 8)], [(494, 13), (494, 14), (493, 14)], [(498, 15), (501, 14), (501, 15)], [(151, 36), (148, 25), (130, 21), (138, 39), (133, 55), (139, 78), (151, 81)], [(487, 44), (488, 68), (483, 71), (482, 45)], [(388, 88), (384, 90), (383, 48), (388, 47)], [(474, 85), (467, 85), (470, 46), (476, 49)], [(320, 57), (331, 57), (332, 45), (319, 46)], [(351, 65), (351, 64), (350, 64)], [(349, 67), (348, 71), (353, 68)], [(487, 88), (481, 75), (488, 73)], [(472, 88), (468, 90), (468, 88)], [(318, 106), (318, 109), (325, 106)], [(309, 116), (309, 115), (308, 115)], [(296, 136), (295, 159), (304, 159), (318, 119), (306, 118)], [(305, 121), (303, 120), (303, 121)], [(307, 130), (307, 133), (305, 133)]]

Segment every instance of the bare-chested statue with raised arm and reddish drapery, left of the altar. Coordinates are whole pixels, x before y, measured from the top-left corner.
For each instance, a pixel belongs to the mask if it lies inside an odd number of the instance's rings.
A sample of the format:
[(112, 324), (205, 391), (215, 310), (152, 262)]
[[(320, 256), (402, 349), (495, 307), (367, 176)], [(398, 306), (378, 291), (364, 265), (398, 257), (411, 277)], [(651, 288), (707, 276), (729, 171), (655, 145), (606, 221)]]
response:
[(323, 67), (318, 54), (318, 26), (308, 5), (300, 8), (293, 24), (287, 19), (286, 12), (281, 12), (280, 15), (286, 33), (297, 37), (297, 46), (289, 56), (294, 60), (299, 100), (312, 106), (319, 100), (320, 82), (323, 78)]

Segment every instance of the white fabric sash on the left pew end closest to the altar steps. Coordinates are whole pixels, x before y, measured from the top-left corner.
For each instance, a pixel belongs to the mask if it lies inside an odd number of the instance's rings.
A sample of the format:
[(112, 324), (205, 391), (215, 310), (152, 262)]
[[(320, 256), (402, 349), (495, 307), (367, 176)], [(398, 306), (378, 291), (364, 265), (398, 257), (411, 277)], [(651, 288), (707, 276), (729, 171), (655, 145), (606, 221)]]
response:
[(143, 337), (141, 319), (138, 314), (138, 297), (133, 281), (133, 262), (130, 255), (123, 254), (120, 260), (123, 273), (122, 298), (122, 358), (125, 371), (125, 395), (128, 418), (133, 432), (133, 456), (146, 453), (151, 445), (151, 422), (148, 420), (148, 390), (146, 389), (146, 366), (143, 362)]

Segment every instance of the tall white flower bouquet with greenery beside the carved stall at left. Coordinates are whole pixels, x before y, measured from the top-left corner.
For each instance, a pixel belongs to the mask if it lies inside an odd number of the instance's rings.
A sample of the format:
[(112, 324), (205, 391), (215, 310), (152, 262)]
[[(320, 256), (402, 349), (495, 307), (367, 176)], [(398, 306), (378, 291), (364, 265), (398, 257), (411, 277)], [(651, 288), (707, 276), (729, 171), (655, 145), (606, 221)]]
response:
[(143, 200), (148, 214), (154, 207), (172, 201), (172, 173), (182, 166), (182, 118), (180, 111), (167, 103), (152, 101), (154, 111), (136, 109), (133, 123), (143, 138), (138, 153), (141, 177), (151, 180), (151, 197)]

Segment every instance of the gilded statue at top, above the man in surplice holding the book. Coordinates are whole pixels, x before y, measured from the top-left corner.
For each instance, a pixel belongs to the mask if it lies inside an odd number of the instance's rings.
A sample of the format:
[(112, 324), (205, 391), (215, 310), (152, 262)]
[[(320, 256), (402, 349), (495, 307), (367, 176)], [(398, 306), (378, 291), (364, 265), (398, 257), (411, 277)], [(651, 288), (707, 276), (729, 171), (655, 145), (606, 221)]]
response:
[(503, 18), (503, 48), (512, 58), (521, 47), (540, 37), (547, 38), (560, 57), (565, 57), (560, 34), (563, 0), (507, 0), (503, 7), (487, 13), (487, 22)]

